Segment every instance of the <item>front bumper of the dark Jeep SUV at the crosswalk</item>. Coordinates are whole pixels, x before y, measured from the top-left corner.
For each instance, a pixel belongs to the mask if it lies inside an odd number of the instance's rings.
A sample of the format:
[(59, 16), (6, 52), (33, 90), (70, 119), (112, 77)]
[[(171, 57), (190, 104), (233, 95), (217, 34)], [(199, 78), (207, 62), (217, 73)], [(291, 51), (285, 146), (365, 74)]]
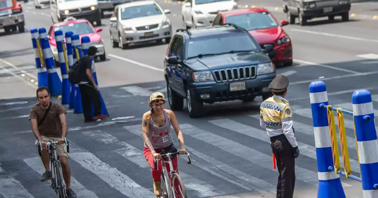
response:
[(250, 80), (238, 80), (235, 82), (245, 81), (246, 90), (230, 91), (230, 83), (215, 81), (191, 83), (189, 89), (194, 94), (198, 101), (206, 103), (243, 100), (246, 98), (256, 97), (264, 94), (269, 94), (271, 91), (268, 88), (270, 82), (276, 77), (276, 73), (258, 75)]

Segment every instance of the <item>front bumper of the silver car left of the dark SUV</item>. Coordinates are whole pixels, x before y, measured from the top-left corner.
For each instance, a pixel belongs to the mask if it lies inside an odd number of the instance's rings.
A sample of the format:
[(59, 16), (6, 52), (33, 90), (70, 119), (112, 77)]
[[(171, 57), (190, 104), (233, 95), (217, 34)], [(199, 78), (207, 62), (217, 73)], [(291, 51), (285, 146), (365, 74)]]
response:
[[(146, 37), (145, 33), (153, 32), (152, 37)], [(133, 31), (127, 31), (127, 32), (122, 32), (121, 37), (123, 40), (123, 43), (140, 43), (140, 42), (148, 42), (148, 41), (153, 41), (153, 40), (160, 40), (163, 38), (170, 38), (172, 37), (172, 25), (166, 25), (163, 27), (155, 28), (155, 29), (149, 29), (149, 30), (141, 30), (141, 31), (136, 31), (134, 28)]]

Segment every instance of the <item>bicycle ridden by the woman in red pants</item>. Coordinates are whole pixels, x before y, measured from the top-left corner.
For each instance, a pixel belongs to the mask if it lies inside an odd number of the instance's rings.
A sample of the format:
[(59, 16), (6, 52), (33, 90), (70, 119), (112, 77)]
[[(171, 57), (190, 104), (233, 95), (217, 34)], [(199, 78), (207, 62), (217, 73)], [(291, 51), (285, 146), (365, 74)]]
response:
[[(166, 154), (161, 154), (161, 159), (154, 159), (153, 164), (154, 168), (153, 170), (156, 170), (158, 168), (158, 161), (161, 160), (161, 165), (163, 167), (163, 171), (161, 172), (161, 191), (163, 194), (163, 198), (176, 198), (176, 193), (175, 193), (175, 181), (177, 180), (179, 183), (179, 186), (181, 186), (180, 193), (181, 193), (181, 198), (186, 198), (186, 192), (185, 192), (185, 187), (183, 184), (183, 181), (181, 180), (180, 175), (176, 172), (176, 170), (173, 169), (172, 165), (172, 159), (170, 158), (172, 155), (176, 155), (179, 152), (174, 152), (174, 153), (166, 153)], [(188, 164), (192, 164), (192, 158), (190, 157), (190, 154), (186, 152), (187, 157), (188, 157)], [(164, 157), (164, 158), (163, 158)], [(163, 159), (163, 160), (162, 160)], [(166, 164), (169, 164), (169, 169), (170, 172), (167, 171), (167, 167), (165, 166)], [(168, 180), (169, 178), (169, 180)]]

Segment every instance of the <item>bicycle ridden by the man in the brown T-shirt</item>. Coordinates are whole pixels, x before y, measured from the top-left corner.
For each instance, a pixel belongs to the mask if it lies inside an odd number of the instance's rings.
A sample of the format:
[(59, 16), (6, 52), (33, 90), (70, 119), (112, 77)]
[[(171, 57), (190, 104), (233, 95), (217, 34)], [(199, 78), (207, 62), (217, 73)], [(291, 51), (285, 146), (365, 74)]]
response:
[[(68, 140), (64, 138), (65, 144), (67, 145), (67, 153), (69, 152), (69, 147), (68, 147)], [(59, 196), (59, 198), (66, 198), (66, 183), (63, 178), (62, 174), (62, 166), (60, 165), (60, 160), (57, 156), (56, 152), (56, 146), (58, 145), (58, 141), (53, 141), (53, 142), (46, 142), (48, 147), (48, 154), (51, 162), (51, 173), (53, 173), (52, 179), (51, 179), (51, 187), (55, 190), (56, 194)], [(38, 153), (39, 156), (42, 157), (42, 145), (39, 143), (38, 147)]]

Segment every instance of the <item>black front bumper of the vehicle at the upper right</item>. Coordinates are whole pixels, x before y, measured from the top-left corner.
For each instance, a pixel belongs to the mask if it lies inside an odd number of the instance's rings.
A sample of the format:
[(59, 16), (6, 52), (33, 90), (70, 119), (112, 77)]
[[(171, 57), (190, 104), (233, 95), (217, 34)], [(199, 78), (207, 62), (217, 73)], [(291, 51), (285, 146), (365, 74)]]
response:
[[(324, 8), (331, 8), (331, 7), (332, 7), (331, 12), (324, 12)], [(338, 14), (342, 14), (349, 11), (350, 11), (350, 4), (303, 9), (301, 10), (301, 13), (305, 17), (325, 17), (328, 15), (338, 15)]]

